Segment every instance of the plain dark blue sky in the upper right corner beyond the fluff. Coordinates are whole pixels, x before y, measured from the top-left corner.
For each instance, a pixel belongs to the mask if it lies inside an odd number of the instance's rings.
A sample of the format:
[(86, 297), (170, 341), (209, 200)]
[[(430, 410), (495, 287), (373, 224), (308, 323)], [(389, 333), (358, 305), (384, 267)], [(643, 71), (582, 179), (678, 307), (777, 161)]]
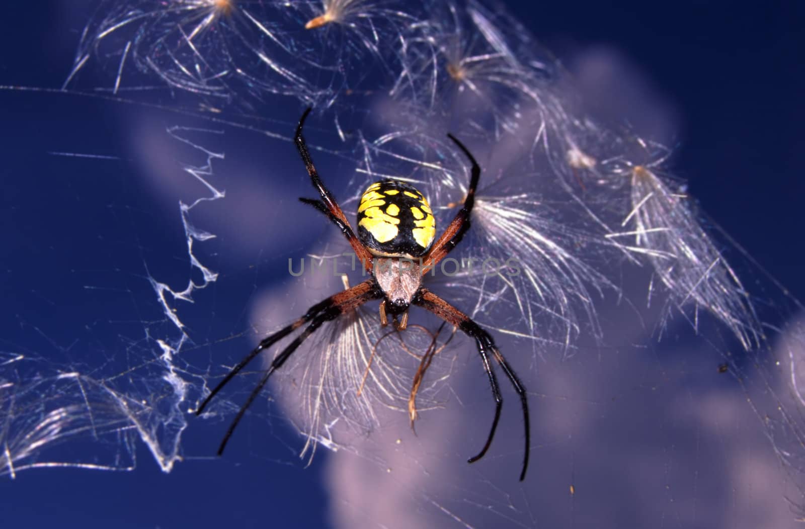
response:
[(802, 2), (512, 2), (573, 69), (620, 50), (679, 112), (671, 166), (704, 211), (802, 298)]

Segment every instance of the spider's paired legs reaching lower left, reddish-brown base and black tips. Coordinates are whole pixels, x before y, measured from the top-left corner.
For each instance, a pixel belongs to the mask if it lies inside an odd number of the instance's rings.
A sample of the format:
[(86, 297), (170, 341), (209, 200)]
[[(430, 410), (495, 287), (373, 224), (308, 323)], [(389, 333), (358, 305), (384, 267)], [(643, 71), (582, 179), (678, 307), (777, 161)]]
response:
[(199, 408), (196, 410), (196, 416), (200, 415), (201, 412), (204, 412), (204, 408), (209, 404), (210, 400), (213, 399), (214, 396), (218, 392), (221, 391), (224, 386), (229, 383), (229, 381), (237, 375), (239, 371), (241, 371), (246, 364), (250, 363), (254, 357), (259, 355), (263, 350), (267, 347), (270, 347), (275, 342), (278, 342), (280, 339), (286, 337), (288, 334), (291, 334), (294, 330), (298, 329), (300, 326), (303, 326), (307, 322), (311, 322), (305, 330), (302, 331), (294, 340), (283, 349), (283, 351), (276, 356), (276, 358), (271, 362), (271, 365), (266, 371), (266, 374), (263, 375), (260, 383), (258, 383), (257, 387), (254, 388), (254, 391), (251, 392), (249, 399), (246, 400), (246, 403), (242, 405), (240, 410), (237, 412), (237, 416), (232, 421), (232, 424), (229, 425), (229, 429), (224, 436), (223, 441), (221, 441), (221, 445), (218, 447), (218, 455), (224, 452), (226, 443), (229, 441), (229, 437), (232, 437), (232, 433), (234, 432), (237, 424), (242, 419), (243, 415), (246, 413), (246, 410), (250, 407), (250, 405), (254, 402), (254, 399), (262, 391), (262, 388), (268, 382), (268, 378), (270, 375), (282, 367), (283, 363), (293, 354), (294, 351), (302, 344), (302, 342), (308, 338), (316, 329), (318, 329), (324, 322), (328, 322), (341, 316), (350, 310), (354, 310), (357, 306), (361, 306), (366, 301), (370, 301), (373, 299), (378, 299), (382, 297), (382, 291), (379, 289), (377, 281), (373, 279), (369, 279), (367, 281), (363, 281), (362, 283), (355, 285), (351, 289), (346, 289), (340, 293), (336, 293), (312, 306), (308, 309), (308, 312), (305, 313), (302, 318), (299, 318), (295, 322), (291, 323), (289, 326), (283, 327), (275, 334), (271, 334), (266, 338), (263, 338), (261, 342), (258, 344), (258, 347), (255, 347), (253, 351), (251, 351), (244, 359), (242, 359), (235, 367), (233, 367), (229, 373), (221, 380), (220, 383), (213, 389), (212, 392), (204, 399), (204, 402), (201, 403)]

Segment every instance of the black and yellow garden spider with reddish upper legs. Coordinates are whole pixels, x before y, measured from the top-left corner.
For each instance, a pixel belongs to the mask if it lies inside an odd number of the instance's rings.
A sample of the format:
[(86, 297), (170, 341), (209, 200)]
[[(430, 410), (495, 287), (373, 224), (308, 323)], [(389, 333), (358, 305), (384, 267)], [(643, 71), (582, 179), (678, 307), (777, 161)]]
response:
[(424, 195), (410, 184), (390, 178), (373, 183), (361, 196), (357, 212), (358, 229), (356, 236), (352, 225), (347, 220), (344, 212), (341, 211), (341, 207), (339, 207), (335, 197), (319, 178), (316, 166), (313, 165), (313, 160), (308, 153), (308, 146), (302, 137), (302, 128), (310, 111), (311, 108), (308, 107), (302, 117), (299, 118), (294, 143), (296, 149), (299, 150), (299, 155), (302, 157), (305, 167), (308, 169), (313, 187), (319, 191), (321, 199), (302, 198), (299, 200), (315, 207), (326, 215), (332, 223), (336, 224), (361, 260), (370, 278), (316, 303), (295, 322), (263, 338), (258, 346), (237, 363), (225, 375), (221, 383), (218, 383), (213, 391), (210, 392), (196, 410), (196, 416), (200, 415), (210, 400), (213, 400), (213, 397), (257, 355), (293, 331), (305, 324), (308, 325), (280, 351), (279, 355), (275, 356), (270, 367), (262, 375), (262, 379), (251, 392), (246, 403), (237, 412), (232, 424), (229, 425), (229, 429), (218, 447), (218, 455), (224, 452), (229, 437), (232, 436), (246, 410), (262, 392), (262, 388), (268, 382), (270, 375), (283, 366), (306, 338), (313, 334), (324, 322), (332, 321), (343, 314), (347, 314), (367, 301), (380, 300), (380, 322), (382, 326), (388, 325), (390, 315), (394, 318), (398, 330), (404, 330), (408, 322), (408, 309), (414, 305), (436, 314), (436, 316), (456, 326), (464, 334), (475, 340), (478, 354), (481, 355), (481, 363), (486, 375), (489, 377), (489, 385), (492, 388), (492, 396), (495, 400), (495, 414), (485, 445), (481, 452), (469, 458), (469, 463), (484, 457), (489, 445), (492, 444), (497, 422), (500, 420), (503, 399), (489, 357), (491, 356), (500, 365), (506, 377), (514, 386), (514, 391), (517, 392), (522, 403), (523, 423), (526, 430), (526, 449), (522, 459), (522, 471), (520, 472), (520, 481), (522, 481), (526, 478), (530, 449), (526, 388), (523, 387), (514, 369), (510, 367), (501, 352), (498, 351), (492, 336), (488, 332), (483, 330), (476, 322), (473, 322), (469, 316), (422, 285), (422, 277), (425, 273), (444, 259), (444, 256), (447, 256), (448, 252), (456, 247), (456, 244), (460, 242), (464, 233), (469, 229), (469, 217), (473, 211), (475, 190), (478, 185), (478, 178), (481, 176), (481, 167), (478, 166), (475, 158), (473, 158), (473, 155), (470, 154), (464, 144), (448, 133), (448, 137), (471, 162), (472, 172), (464, 205), (451, 223), (448, 224), (442, 236), (434, 243), (436, 219)]

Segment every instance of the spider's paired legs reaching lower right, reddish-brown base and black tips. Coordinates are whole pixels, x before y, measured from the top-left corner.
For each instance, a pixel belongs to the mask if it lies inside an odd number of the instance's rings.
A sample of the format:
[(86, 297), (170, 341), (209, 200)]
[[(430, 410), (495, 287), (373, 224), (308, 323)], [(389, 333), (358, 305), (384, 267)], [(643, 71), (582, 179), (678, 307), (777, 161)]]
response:
[(517, 392), (518, 396), (520, 397), (520, 403), (522, 404), (522, 419), (526, 427), (526, 449), (522, 459), (522, 472), (520, 473), (520, 481), (522, 482), (522, 480), (526, 478), (526, 469), (528, 468), (528, 455), (531, 443), (530, 420), (528, 416), (528, 396), (526, 394), (526, 388), (522, 385), (520, 379), (518, 379), (514, 369), (511, 368), (509, 363), (506, 362), (506, 359), (503, 358), (501, 352), (498, 351), (492, 336), (485, 330), (481, 329), (481, 326), (479, 326), (476, 322), (473, 322), (469, 316), (462, 313), (460, 310), (456, 309), (456, 307), (450, 305), (447, 301), (444, 301), (444, 299), (436, 296), (435, 293), (432, 293), (425, 288), (419, 289), (419, 292), (414, 297), (412, 303), (414, 305), (421, 306), (425, 310), (429, 310), (433, 314), (436, 314), (436, 316), (442, 318), (445, 322), (452, 323), (452, 325), (458, 327), (470, 338), (475, 338), (478, 353), (481, 355), (481, 362), (484, 364), (484, 371), (486, 371), (486, 374), (489, 376), (489, 385), (492, 388), (492, 396), (495, 400), (495, 416), (492, 420), (492, 429), (489, 430), (489, 437), (487, 438), (484, 447), (481, 449), (481, 452), (479, 452), (476, 456), (470, 457), (468, 462), (473, 463), (481, 459), (481, 457), (484, 457), (484, 454), (489, 449), (489, 445), (492, 444), (492, 438), (494, 437), (495, 430), (497, 429), (497, 421), (500, 420), (503, 398), (501, 396), (500, 387), (497, 384), (497, 378), (495, 377), (494, 371), (492, 371), (492, 366), (489, 363), (490, 353), (506, 374), (506, 378), (508, 378), (512, 386), (514, 386), (514, 391)]

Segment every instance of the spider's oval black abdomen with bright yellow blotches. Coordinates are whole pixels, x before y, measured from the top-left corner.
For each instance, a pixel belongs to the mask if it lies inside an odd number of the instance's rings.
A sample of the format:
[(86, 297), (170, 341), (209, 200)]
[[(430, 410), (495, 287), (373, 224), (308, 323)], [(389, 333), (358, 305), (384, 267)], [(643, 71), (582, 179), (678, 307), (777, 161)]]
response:
[(357, 236), (375, 255), (420, 257), (433, 244), (436, 219), (415, 187), (399, 180), (381, 180), (361, 196)]

